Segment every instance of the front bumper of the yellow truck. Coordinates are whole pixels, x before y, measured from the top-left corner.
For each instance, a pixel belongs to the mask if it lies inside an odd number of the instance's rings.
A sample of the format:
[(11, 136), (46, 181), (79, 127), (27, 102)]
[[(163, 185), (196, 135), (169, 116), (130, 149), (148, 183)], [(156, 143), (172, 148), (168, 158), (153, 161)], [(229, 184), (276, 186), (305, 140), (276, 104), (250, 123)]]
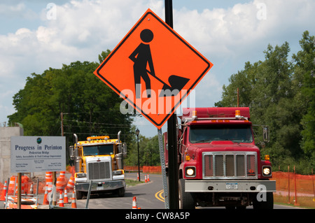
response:
[[(88, 192), (90, 182), (77, 182), (75, 184), (76, 190), (81, 192)], [(91, 192), (97, 191), (111, 191), (114, 189), (126, 188), (125, 180), (111, 180), (111, 181), (93, 181)]]

